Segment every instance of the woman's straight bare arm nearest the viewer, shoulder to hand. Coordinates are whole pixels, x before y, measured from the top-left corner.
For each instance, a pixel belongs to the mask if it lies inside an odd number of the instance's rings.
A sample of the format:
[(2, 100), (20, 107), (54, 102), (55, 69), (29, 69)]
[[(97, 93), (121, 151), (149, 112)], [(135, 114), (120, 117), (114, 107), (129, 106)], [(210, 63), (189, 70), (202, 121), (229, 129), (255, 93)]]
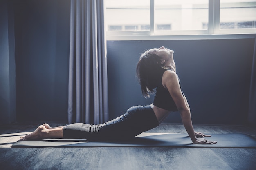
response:
[(182, 95), (178, 77), (174, 71), (165, 71), (162, 78), (163, 86), (168, 89), (169, 93), (173, 97), (173, 100), (180, 112), (184, 127), (189, 134), (194, 144), (216, 144), (214, 141), (208, 141), (203, 138), (196, 138), (195, 131), (193, 129), (191, 114), (189, 105), (186, 101), (186, 97)]

